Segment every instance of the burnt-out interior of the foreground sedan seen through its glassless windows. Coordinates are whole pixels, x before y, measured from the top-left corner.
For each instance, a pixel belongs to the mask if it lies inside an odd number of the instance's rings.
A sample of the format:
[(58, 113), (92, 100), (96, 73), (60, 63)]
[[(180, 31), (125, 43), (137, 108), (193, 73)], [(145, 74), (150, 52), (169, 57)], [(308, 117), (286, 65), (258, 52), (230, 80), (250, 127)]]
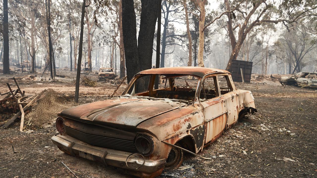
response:
[[(159, 87), (155, 88), (155, 80), (159, 79)], [(220, 92), (231, 91), (228, 76), (218, 76)], [(191, 75), (141, 75), (132, 84), (128, 93), (132, 96), (147, 96), (154, 98), (181, 99), (194, 101), (198, 78)], [(200, 100), (204, 101), (217, 97), (216, 76), (204, 79), (200, 88)]]

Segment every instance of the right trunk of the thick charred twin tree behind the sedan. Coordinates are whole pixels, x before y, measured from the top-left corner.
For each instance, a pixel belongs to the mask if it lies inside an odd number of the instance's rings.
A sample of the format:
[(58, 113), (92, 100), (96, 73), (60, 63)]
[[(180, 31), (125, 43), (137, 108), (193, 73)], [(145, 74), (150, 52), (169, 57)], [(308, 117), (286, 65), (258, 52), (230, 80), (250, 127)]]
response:
[(138, 37), (140, 71), (152, 67), (153, 41), (159, 0), (141, 0), (141, 20)]

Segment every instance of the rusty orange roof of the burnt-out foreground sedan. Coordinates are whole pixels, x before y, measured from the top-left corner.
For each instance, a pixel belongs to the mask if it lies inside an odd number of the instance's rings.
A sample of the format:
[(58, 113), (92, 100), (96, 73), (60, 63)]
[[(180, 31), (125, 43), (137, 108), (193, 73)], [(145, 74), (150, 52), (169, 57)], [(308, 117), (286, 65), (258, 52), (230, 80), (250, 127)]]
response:
[(206, 74), (211, 73), (230, 73), (222, 69), (214, 69), (207, 67), (162, 67), (155, 69), (147, 69), (138, 74), (179, 74), (179, 75), (196, 75), (203, 78)]

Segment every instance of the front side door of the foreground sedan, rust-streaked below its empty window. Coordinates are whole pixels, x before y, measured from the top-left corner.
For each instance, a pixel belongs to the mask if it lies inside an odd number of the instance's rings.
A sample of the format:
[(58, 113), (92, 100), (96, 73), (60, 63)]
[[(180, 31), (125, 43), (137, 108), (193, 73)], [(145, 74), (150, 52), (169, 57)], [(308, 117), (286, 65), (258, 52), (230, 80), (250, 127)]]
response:
[(205, 147), (222, 135), (227, 122), (227, 110), (220, 96), (216, 76), (211, 75), (202, 80), (199, 99), (204, 108)]

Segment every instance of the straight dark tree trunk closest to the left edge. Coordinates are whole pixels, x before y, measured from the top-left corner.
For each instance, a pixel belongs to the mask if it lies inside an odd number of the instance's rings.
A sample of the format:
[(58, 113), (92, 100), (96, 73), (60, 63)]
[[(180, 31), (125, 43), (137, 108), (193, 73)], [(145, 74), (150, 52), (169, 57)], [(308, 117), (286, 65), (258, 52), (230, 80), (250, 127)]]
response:
[(10, 74), (9, 67), (8, 0), (3, 0), (3, 73)]

